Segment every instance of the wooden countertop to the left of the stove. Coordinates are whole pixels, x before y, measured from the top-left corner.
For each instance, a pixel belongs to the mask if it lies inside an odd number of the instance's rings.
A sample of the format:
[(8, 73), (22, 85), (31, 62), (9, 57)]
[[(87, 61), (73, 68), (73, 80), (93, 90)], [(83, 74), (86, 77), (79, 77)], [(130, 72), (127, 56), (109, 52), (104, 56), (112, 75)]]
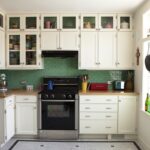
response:
[(33, 90), (33, 91), (27, 91), (27, 90), (22, 90), (22, 89), (13, 89), (13, 90), (8, 90), (6, 94), (4, 95), (3, 93), (0, 93), (0, 99), (11, 96), (11, 95), (37, 95), (38, 91)]

